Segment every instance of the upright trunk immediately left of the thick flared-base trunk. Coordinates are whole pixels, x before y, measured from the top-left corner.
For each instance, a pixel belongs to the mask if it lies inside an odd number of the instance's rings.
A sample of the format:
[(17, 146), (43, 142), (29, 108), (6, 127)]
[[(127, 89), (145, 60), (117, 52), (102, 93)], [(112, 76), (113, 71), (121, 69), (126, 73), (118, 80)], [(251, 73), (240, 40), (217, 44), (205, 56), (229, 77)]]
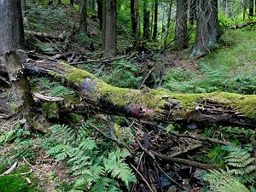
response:
[(188, 32), (187, 32), (187, 20), (188, 20), (188, 1), (177, 1), (177, 13), (176, 13), (176, 35), (173, 49), (181, 50), (188, 48)]

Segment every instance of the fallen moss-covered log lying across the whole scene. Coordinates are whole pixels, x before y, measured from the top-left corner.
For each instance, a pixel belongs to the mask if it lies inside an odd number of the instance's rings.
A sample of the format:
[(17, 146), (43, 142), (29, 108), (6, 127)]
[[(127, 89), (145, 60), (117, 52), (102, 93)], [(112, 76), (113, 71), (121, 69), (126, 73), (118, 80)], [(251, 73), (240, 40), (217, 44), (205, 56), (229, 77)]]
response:
[[(256, 96), (225, 92), (179, 94), (166, 90), (131, 90), (113, 87), (91, 73), (66, 63), (26, 65), (29, 76), (49, 77), (79, 93), (81, 106), (103, 113), (155, 122), (256, 127)], [(86, 113), (86, 112), (84, 112)]]

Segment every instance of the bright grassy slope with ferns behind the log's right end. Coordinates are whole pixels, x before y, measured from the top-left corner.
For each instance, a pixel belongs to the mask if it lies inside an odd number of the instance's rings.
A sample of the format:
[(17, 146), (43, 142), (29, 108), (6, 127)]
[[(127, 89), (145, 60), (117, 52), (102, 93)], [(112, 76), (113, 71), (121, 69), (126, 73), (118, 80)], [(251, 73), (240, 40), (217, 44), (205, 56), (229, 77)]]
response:
[[(206, 93), (227, 91), (242, 94), (256, 93), (255, 32), (226, 32), (224, 42), (230, 45), (213, 50), (201, 59), (199, 71), (171, 69), (163, 87), (177, 92)], [(232, 43), (233, 42), (233, 43)]]

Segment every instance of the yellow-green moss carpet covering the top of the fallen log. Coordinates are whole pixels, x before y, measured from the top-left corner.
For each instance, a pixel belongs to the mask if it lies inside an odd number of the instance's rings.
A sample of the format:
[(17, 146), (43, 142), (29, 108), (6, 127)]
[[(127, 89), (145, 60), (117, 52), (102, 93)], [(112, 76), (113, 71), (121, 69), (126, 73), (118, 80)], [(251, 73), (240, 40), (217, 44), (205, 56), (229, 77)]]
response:
[[(171, 100), (175, 97), (173, 100), (178, 102), (179, 105), (185, 108), (189, 113), (195, 110), (197, 102), (201, 102), (202, 99), (207, 98), (214, 102), (224, 103), (227, 107), (234, 108), (248, 118), (256, 119), (256, 96), (242, 96), (225, 92), (180, 94), (165, 90), (150, 90), (148, 88), (143, 90), (124, 89), (106, 84), (102, 80), (96, 79), (92, 74), (66, 63), (62, 62), (61, 66), (65, 67), (67, 70), (67, 79), (74, 84), (80, 84), (84, 82), (86, 78), (96, 81), (96, 90), (87, 92), (90, 98), (94, 99), (95, 102), (102, 100), (113, 103), (119, 107), (143, 104), (142, 107), (151, 108), (153, 113), (161, 113), (163, 111), (161, 108), (163, 108), (166, 102), (162, 97), (167, 95)], [(184, 110), (177, 110), (174, 114), (177, 115), (178, 118), (181, 115), (188, 114), (184, 112)]]

